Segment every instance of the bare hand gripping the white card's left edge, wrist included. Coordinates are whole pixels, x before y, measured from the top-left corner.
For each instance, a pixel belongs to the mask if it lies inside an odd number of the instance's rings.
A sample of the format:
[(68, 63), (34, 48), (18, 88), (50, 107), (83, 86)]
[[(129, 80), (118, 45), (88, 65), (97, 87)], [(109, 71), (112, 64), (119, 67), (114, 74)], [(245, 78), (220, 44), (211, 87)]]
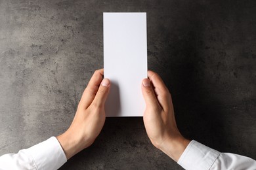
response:
[(103, 79), (103, 69), (95, 71), (83, 92), (71, 126), (57, 137), (67, 159), (93, 144), (100, 133), (106, 119), (104, 105), (109, 91), (110, 80)]

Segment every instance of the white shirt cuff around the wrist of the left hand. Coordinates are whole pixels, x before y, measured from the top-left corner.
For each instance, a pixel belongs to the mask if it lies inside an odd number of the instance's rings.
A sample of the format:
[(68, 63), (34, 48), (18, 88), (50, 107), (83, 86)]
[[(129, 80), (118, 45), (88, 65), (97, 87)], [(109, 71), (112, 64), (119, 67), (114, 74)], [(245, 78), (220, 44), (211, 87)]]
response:
[(67, 158), (56, 137), (51, 137), (42, 143), (26, 150), (32, 156), (37, 169), (58, 169)]

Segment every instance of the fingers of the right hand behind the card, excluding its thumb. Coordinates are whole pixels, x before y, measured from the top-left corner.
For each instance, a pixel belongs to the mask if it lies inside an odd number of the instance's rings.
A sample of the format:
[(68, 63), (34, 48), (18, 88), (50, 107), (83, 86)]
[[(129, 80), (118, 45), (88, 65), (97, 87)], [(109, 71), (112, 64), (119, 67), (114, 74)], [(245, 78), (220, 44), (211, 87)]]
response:
[(169, 93), (168, 88), (165, 86), (161, 77), (154, 73), (153, 71), (148, 71), (148, 78), (154, 86), (154, 92), (156, 93), (156, 98), (158, 99), (163, 110), (169, 108), (171, 104), (171, 94)]

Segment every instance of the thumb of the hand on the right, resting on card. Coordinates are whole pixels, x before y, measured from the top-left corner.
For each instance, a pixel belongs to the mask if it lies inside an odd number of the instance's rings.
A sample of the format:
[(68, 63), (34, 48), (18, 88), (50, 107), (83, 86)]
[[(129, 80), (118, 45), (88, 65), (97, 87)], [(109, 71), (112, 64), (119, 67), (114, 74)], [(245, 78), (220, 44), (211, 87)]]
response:
[(152, 84), (148, 78), (142, 80), (142, 94), (146, 103), (146, 107), (158, 107), (158, 99), (152, 87)]

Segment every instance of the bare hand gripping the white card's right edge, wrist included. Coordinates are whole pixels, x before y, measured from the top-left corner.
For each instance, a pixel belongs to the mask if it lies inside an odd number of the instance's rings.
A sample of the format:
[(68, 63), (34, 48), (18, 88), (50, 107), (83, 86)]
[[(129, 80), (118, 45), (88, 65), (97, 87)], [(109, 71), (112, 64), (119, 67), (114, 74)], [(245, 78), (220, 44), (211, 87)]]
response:
[(150, 141), (178, 161), (190, 141), (182, 137), (176, 125), (169, 90), (158, 74), (148, 71), (148, 78), (142, 80), (142, 94), (146, 102), (143, 120)]

